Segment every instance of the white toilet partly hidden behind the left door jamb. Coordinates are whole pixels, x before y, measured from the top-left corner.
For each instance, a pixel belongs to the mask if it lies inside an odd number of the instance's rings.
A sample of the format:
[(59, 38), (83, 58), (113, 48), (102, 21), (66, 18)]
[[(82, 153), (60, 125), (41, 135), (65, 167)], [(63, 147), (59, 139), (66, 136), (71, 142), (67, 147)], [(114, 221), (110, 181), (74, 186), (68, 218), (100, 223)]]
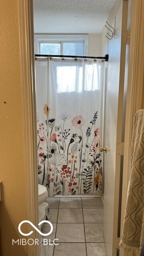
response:
[[(48, 203), (45, 202), (48, 197), (48, 190), (45, 186), (38, 184), (38, 213), (39, 213), (39, 222), (42, 220), (50, 219), (50, 212)], [(39, 230), (41, 230), (42, 225), (39, 226)], [(42, 242), (42, 239), (40, 239)]]

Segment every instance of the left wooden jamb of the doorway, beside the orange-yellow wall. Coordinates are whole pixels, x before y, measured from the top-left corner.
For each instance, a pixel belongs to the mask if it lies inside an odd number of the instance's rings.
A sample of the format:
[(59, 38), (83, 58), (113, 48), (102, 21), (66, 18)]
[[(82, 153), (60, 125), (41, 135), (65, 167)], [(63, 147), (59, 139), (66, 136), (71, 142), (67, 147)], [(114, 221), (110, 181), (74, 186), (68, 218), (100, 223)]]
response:
[[(38, 161), (36, 136), (36, 96), (34, 80), (34, 30), (32, 0), (19, 0), (20, 52), (22, 69), (22, 98), (24, 109), (26, 210), (27, 220), (38, 226)], [(27, 226), (31, 231), (30, 225)], [(30, 236), (38, 239), (33, 229)], [(39, 246), (28, 246), (28, 256), (39, 256)]]

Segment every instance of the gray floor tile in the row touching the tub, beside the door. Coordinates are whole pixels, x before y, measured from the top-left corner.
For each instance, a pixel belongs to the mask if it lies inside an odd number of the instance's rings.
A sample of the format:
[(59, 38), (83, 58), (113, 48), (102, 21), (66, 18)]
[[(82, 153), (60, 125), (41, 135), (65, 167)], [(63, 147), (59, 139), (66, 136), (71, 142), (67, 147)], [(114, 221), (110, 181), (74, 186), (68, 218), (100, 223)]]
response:
[(104, 208), (102, 199), (100, 197), (96, 198), (82, 198), (83, 208)]

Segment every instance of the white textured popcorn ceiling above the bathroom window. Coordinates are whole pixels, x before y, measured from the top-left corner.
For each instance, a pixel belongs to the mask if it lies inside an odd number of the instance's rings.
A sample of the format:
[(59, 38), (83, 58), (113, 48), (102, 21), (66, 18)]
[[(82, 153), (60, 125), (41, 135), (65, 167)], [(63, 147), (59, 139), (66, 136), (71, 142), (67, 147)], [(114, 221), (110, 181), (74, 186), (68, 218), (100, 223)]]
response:
[(115, 0), (33, 0), (35, 33), (98, 34)]

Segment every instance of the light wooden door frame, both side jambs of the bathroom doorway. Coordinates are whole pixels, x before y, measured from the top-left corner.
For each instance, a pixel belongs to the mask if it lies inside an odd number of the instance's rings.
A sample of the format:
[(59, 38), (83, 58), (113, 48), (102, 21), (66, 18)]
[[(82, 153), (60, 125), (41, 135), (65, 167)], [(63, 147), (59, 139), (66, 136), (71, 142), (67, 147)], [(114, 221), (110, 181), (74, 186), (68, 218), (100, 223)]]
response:
[[(38, 225), (38, 173), (36, 151), (36, 99), (34, 82), (34, 31), (32, 0), (18, 0), (20, 24), (20, 50), (23, 85), (24, 139), (26, 166), (27, 219)], [(132, 0), (130, 29), (130, 59), (128, 69), (128, 94), (126, 100), (126, 124), (124, 140), (124, 171), (122, 185), (121, 230), (126, 207), (129, 180), (130, 144), (135, 112), (144, 108), (144, 1)], [(34, 230), (32, 238), (38, 238)], [(131, 254), (120, 249), (120, 256)], [(28, 246), (28, 256), (39, 256), (38, 246)]]

